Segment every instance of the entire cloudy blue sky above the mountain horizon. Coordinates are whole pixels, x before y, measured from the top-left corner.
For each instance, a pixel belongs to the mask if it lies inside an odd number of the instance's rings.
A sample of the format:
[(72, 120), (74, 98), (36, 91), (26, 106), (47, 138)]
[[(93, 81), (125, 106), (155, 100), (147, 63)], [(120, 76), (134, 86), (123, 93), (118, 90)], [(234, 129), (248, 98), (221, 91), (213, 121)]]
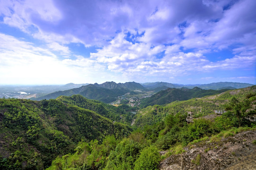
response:
[(0, 84), (256, 84), (255, 0), (0, 4)]

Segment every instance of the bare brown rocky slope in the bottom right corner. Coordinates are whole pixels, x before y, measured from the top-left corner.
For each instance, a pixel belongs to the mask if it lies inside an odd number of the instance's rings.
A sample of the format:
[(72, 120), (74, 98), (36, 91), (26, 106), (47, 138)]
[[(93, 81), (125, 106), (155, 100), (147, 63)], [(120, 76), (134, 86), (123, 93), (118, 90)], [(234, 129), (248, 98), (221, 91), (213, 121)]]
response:
[(256, 130), (185, 147), (163, 160), (160, 170), (256, 170)]

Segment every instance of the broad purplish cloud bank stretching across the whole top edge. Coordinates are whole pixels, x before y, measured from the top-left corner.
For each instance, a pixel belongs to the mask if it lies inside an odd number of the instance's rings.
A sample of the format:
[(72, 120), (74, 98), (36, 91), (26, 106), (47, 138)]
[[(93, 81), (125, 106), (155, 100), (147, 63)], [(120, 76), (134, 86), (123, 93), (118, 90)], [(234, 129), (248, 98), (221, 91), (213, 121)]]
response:
[(116, 32), (137, 29), (145, 33), (137, 40), (145, 43), (221, 49), (256, 30), (253, 0), (25, 0), (2, 4), (5, 24), (25, 32), (34, 26), (37, 38), (85, 46), (106, 45)]

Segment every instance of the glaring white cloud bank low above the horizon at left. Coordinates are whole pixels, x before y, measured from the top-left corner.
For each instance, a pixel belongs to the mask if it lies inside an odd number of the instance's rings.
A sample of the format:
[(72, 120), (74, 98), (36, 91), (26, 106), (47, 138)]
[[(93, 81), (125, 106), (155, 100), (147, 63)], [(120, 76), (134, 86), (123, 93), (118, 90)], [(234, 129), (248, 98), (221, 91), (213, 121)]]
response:
[(108, 77), (105, 67), (94, 60), (82, 56), (60, 60), (51, 49), (5, 34), (0, 34), (0, 41), (2, 84), (94, 83), (97, 77)]

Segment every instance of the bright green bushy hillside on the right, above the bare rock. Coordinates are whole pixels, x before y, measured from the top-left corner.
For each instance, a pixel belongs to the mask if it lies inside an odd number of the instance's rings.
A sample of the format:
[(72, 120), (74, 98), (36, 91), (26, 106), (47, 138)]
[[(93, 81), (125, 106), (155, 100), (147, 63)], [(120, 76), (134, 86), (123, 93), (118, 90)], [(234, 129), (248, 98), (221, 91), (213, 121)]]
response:
[[(138, 112), (133, 125), (134, 131), (128, 137), (117, 140), (114, 136), (108, 136), (103, 143), (97, 140), (81, 142), (75, 149), (76, 153), (57, 158), (48, 170), (155, 170), (161, 160), (186, 152), (183, 147), (188, 144), (187, 148), (206, 139), (209, 139), (206, 143), (209, 144), (242, 131), (255, 130), (256, 122), (247, 119), (256, 116), (255, 105), (256, 86), (184, 102), (172, 102), (166, 106), (149, 106)], [(216, 115), (216, 109), (226, 112)], [(194, 123), (187, 124), (186, 111), (195, 113)], [(211, 136), (213, 137), (210, 138)], [(254, 143), (256, 144), (256, 140)], [(252, 141), (248, 141), (248, 144), (252, 144)], [(209, 150), (211, 148), (205, 148), (205, 152)], [(225, 154), (234, 153), (229, 151)], [(220, 157), (222, 156), (224, 155)], [(168, 160), (166, 162), (173, 163)], [(199, 156), (191, 158), (189, 162), (199, 167)], [(186, 162), (188, 166), (189, 162)], [(225, 162), (220, 161), (209, 166), (220, 169), (223, 164)], [(209, 166), (204, 164), (204, 168), (211, 169)]]

